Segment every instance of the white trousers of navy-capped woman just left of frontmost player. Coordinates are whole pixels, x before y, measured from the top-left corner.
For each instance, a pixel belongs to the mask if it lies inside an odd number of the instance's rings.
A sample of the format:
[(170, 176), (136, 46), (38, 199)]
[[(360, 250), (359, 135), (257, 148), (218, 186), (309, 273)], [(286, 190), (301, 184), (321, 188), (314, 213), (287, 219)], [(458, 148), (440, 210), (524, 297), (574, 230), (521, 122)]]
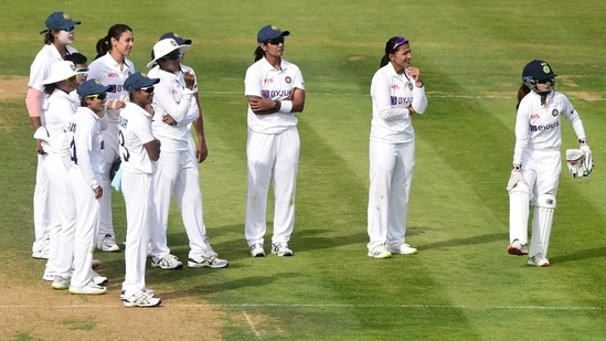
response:
[[(103, 174), (95, 173), (100, 183)], [(78, 167), (72, 167), (68, 173), (70, 207), (73, 212), (74, 232), (74, 273), (72, 286), (85, 287), (92, 279), (93, 252), (95, 236), (99, 230), (99, 200), (84, 180)], [(103, 193), (105, 195), (105, 191)]]

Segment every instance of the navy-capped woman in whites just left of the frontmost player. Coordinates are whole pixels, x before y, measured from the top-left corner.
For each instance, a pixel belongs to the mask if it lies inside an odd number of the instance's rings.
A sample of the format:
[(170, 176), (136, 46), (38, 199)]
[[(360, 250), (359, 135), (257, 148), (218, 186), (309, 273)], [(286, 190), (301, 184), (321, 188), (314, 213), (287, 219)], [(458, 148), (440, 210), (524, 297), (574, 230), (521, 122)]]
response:
[[(104, 195), (103, 173), (105, 154), (102, 127), (105, 118), (105, 99), (108, 86), (97, 79), (81, 84), (77, 94), (81, 107), (77, 108), (70, 126), (72, 168), (70, 170), (70, 211), (73, 213), (73, 264), (70, 283), (71, 294), (99, 295), (106, 288), (91, 266), (95, 238), (99, 226), (99, 199)], [(105, 120), (105, 121), (104, 121)], [(103, 277), (105, 280), (106, 278)]]

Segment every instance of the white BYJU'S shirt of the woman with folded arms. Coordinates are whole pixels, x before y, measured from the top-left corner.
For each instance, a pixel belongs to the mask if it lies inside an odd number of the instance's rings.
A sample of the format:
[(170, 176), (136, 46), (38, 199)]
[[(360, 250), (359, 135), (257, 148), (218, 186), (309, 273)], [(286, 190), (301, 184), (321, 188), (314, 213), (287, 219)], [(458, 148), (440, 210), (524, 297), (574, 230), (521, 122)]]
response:
[[(305, 90), (301, 71), (293, 63), (281, 60), (280, 70), (274, 68), (265, 57), (246, 70), (244, 95), (274, 100), (288, 100), (295, 88)], [(279, 134), (297, 125), (294, 113), (256, 115), (248, 105), (248, 128), (256, 132)]]

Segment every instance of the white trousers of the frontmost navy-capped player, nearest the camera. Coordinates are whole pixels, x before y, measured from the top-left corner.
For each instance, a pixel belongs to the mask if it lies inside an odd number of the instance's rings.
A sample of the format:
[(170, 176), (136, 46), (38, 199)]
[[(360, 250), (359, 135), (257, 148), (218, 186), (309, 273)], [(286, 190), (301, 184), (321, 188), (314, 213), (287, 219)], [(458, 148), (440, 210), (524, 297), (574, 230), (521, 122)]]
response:
[(152, 174), (123, 172), (121, 191), (126, 204), (126, 274), (123, 290), (130, 297), (146, 287), (147, 246), (153, 220)]

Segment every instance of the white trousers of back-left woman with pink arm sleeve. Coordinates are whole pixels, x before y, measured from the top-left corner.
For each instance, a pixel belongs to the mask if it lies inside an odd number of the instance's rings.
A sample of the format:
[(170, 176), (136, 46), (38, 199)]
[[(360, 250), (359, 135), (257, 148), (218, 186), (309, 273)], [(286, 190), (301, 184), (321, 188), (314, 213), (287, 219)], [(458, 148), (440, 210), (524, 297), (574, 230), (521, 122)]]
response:
[(49, 239), (51, 234), (51, 212), (49, 203), (49, 177), (44, 171), (44, 159), (46, 154), (38, 154), (38, 167), (35, 170), (35, 187), (33, 194), (33, 221), (34, 242), (32, 252), (38, 252)]

